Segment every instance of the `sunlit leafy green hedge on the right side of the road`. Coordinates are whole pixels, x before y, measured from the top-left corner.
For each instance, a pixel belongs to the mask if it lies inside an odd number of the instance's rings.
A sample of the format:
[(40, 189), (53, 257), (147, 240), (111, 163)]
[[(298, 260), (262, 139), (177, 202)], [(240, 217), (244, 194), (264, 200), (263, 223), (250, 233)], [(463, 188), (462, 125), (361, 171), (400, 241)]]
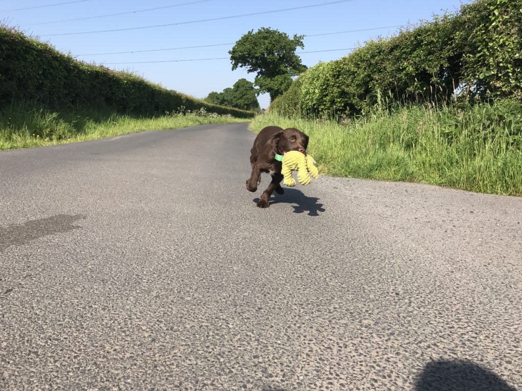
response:
[(360, 114), (375, 104), (448, 103), (457, 96), (520, 101), (520, 20), (522, 0), (478, 0), (454, 15), (435, 17), (392, 38), (366, 42), (339, 60), (319, 63), (270, 108), (284, 115)]

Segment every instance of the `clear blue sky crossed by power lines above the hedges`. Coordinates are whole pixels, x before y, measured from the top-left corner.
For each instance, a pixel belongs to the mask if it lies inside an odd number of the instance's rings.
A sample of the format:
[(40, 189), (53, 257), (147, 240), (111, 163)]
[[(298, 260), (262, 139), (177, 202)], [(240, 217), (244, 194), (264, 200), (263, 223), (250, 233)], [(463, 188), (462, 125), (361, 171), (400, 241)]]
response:
[[(371, 38), (397, 34), (399, 29), (390, 26), (407, 26), (408, 23), (418, 23), (422, 19), (431, 20), (434, 14), (440, 15), (444, 10), (453, 11), (461, 5), (460, 0), (349, 0), (326, 4), (333, 2), (335, 0), (0, 0), (0, 20), (27, 34), (39, 36), (57, 50), (77, 55), (78, 59), (104, 64), (113, 69), (131, 70), (163, 87), (204, 98), (210, 91), (220, 92), (232, 87), (238, 79), (253, 81), (255, 75), (248, 74), (244, 68), (232, 71), (228, 58), (179, 62), (173, 60), (229, 57), (228, 51), (235, 41), (246, 32), (257, 31), (261, 27), (277, 29), (290, 36), (373, 29), (305, 36), (304, 50), (298, 48), (297, 52), (315, 52), (300, 55), (303, 64), (311, 67), (320, 61), (341, 58), (350, 52), (350, 48), (364, 44)], [(69, 4), (53, 5), (59, 3)], [(184, 23), (317, 4), (325, 5)], [(141, 11), (150, 8), (160, 9)], [(108, 14), (121, 15), (103, 16)], [(89, 19), (63, 21), (80, 18)], [(55, 35), (168, 24), (172, 26)], [(218, 44), (227, 45), (163, 50)], [(100, 54), (146, 50), (150, 52)], [(260, 95), (259, 103), (262, 107), (267, 107), (268, 95)]]

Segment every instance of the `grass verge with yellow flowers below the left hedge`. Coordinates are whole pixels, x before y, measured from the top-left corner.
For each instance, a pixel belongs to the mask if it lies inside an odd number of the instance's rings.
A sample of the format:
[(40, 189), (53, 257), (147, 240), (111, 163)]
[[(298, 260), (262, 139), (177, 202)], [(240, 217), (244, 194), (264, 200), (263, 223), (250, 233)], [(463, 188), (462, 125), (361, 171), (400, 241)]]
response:
[(191, 112), (181, 107), (176, 112), (147, 118), (85, 109), (55, 112), (32, 108), (29, 104), (11, 104), (0, 111), (0, 150), (87, 141), (145, 130), (244, 121), (209, 113), (205, 108)]

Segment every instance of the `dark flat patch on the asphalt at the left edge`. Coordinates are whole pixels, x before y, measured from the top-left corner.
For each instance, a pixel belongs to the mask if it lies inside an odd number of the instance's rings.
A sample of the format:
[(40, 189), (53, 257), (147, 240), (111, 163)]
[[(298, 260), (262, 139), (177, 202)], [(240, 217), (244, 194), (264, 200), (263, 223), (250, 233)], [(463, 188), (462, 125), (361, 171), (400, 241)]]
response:
[(10, 246), (27, 245), (31, 240), (60, 234), (81, 228), (73, 223), (84, 219), (84, 215), (58, 214), (56, 216), (30, 220), (23, 224), (0, 227), (0, 251)]

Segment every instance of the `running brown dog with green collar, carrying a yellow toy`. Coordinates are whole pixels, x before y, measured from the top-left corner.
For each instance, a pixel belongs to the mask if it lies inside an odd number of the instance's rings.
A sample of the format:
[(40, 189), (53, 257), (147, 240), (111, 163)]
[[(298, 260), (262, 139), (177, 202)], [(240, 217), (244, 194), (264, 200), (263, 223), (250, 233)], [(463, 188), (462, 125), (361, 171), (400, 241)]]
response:
[[(267, 126), (254, 140), (250, 155), (252, 174), (246, 180), (246, 189), (256, 191), (261, 181), (261, 173), (270, 173), (272, 181), (263, 195), (257, 202), (259, 207), (270, 206), (268, 200), (274, 190), (278, 194), (283, 194), (284, 190), (280, 183), (283, 180), (281, 175), (281, 157), (288, 151), (300, 151), (306, 154), (308, 146), (308, 136), (295, 128), (282, 129), (279, 126)], [(279, 159), (279, 160), (278, 160)]]

